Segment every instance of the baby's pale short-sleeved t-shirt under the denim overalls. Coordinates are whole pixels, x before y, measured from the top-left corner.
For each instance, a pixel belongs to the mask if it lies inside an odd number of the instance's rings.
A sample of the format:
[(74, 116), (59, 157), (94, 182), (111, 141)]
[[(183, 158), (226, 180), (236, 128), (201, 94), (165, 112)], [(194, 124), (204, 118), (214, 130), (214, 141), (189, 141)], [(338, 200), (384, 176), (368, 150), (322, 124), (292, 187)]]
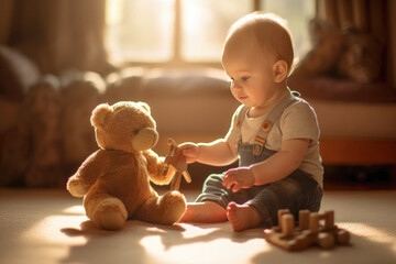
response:
[[(272, 151), (279, 151), (282, 142), (285, 140), (308, 139), (308, 151), (301, 161), (299, 169), (311, 175), (314, 179), (318, 182), (319, 186), (322, 187), (323, 167), (319, 154), (320, 132), (317, 116), (306, 100), (301, 98), (296, 99), (297, 102), (288, 106), (282, 113), (280, 119), (273, 124), (266, 139), (265, 147)], [(248, 110), (241, 129), (239, 129), (237, 128), (238, 113), (242, 107), (243, 106), (234, 112), (231, 128), (226, 135), (226, 140), (230, 142), (234, 153), (238, 152), (238, 142), (240, 139), (242, 143), (254, 144), (254, 138), (257, 135), (267, 116), (266, 113), (257, 118), (250, 118)]]

